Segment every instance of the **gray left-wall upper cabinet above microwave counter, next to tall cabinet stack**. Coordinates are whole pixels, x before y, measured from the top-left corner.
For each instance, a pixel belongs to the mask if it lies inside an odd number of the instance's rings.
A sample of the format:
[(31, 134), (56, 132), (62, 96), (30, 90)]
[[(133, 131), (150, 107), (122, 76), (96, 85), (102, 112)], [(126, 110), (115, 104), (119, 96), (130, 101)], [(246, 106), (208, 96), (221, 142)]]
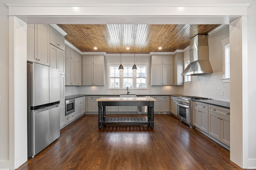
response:
[(75, 62), (66, 58), (66, 85), (75, 85)]

